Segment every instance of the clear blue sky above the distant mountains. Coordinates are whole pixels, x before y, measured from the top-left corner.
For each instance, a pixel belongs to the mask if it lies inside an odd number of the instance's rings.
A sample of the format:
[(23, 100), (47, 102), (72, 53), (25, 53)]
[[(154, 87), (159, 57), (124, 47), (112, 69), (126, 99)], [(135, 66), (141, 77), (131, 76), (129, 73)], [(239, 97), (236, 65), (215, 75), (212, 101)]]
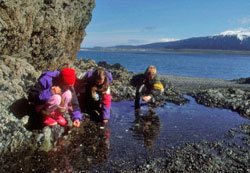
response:
[(82, 48), (142, 45), (250, 28), (250, 0), (95, 0)]

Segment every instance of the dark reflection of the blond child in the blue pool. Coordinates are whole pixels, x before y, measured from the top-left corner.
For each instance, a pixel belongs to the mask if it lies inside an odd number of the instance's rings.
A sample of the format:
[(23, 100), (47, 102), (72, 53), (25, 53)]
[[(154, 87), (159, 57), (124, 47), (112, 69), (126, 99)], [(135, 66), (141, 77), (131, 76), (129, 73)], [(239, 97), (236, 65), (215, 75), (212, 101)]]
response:
[(161, 127), (159, 116), (154, 112), (153, 108), (149, 108), (148, 112), (142, 113), (141, 110), (135, 110), (135, 121), (130, 128), (136, 139), (142, 136), (144, 144), (147, 148), (153, 146), (153, 141), (158, 136)]

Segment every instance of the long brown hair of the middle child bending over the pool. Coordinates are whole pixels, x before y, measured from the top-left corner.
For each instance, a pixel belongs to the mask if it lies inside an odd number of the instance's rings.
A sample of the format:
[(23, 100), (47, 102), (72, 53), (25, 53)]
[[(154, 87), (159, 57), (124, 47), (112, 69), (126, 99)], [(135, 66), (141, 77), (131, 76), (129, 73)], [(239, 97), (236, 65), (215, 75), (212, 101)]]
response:
[[(96, 85), (96, 81), (97, 80), (104, 80), (103, 84), (100, 85), (100, 86), (97, 86)], [(105, 92), (107, 91), (108, 89), (108, 85), (109, 85), (109, 82), (108, 82), (108, 79), (107, 79), (107, 74), (105, 72), (104, 69), (102, 68), (98, 68), (94, 71), (93, 73), (93, 76), (91, 78), (91, 87), (94, 87), (96, 86), (97, 87), (97, 90), (100, 91), (100, 92)]]

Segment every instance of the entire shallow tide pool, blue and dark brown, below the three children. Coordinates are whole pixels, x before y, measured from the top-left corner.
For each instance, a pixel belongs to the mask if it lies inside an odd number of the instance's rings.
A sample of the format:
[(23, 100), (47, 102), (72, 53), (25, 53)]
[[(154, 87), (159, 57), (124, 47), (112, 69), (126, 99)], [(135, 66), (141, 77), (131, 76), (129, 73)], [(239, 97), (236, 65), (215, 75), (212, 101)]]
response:
[[(104, 128), (90, 122), (61, 147), (49, 153), (26, 153), (5, 161), (11, 170), (33, 172), (112, 172), (147, 165), (164, 158), (164, 151), (188, 142), (217, 141), (248, 119), (225, 109), (208, 108), (195, 103), (176, 106), (167, 103), (151, 113), (142, 106), (135, 114), (133, 102), (112, 103), (112, 116)], [(84, 132), (83, 132), (84, 131)], [(19, 160), (17, 162), (17, 160)], [(13, 166), (13, 163), (15, 165)], [(17, 171), (18, 172), (18, 171)]]

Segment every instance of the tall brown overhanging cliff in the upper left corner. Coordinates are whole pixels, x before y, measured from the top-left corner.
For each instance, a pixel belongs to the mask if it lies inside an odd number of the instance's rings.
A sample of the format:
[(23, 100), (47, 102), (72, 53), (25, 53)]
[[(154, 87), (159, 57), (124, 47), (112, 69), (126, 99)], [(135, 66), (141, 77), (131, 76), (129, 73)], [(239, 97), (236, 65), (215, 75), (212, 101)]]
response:
[(1, 0), (0, 55), (55, 69), (76, 58), (94, 0)]

